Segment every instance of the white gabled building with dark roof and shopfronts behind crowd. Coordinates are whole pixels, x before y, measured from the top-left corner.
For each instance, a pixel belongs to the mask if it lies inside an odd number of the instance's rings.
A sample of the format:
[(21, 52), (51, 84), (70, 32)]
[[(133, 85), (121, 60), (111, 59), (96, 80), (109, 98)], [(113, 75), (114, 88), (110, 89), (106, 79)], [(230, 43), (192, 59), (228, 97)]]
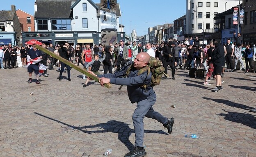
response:
[[(56, 9), (61, 8), (61, 9)], [(101, 43), (100, 3), (91, 0), (37, 0), (34, 5), (35, 32), (23, 32), (23, 43), (37, 39), (53, 45), (90, 45)], [(117, 4), (117, 25), (120, 8)], [(118, 28), (117, 39), (124, 39), (125, 33)]]

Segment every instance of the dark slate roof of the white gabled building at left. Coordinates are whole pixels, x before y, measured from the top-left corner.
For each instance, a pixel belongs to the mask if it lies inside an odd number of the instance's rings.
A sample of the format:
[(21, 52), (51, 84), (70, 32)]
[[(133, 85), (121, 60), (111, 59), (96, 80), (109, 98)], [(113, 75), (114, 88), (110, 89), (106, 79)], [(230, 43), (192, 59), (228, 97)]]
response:
[(74, 0), (37, 0), (34, 18), (71, 18)]

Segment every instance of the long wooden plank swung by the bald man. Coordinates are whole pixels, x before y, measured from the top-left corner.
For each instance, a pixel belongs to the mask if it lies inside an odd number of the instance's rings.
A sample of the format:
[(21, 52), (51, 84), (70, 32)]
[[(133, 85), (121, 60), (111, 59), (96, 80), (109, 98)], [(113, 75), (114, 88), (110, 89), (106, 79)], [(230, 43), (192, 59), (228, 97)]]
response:
[[(39, 50), (41, 50), (41, 51), (43, 51), (43, 52), (45, 52), (45, 53), (47, 53), (48, 55), (50, 55), (50, 56), (52, 56), (52, 57), (54, 57), (54, 58), (56, 58), (56, 59), (59, 59), (59, 61), (61, 61), (62, 63), (64, 63), (64, 64), (66, 64), (66, 65), (68, 65), (68, 66), (74, 68), (75, 70), (79, 71), (80, 73), (83, 73), (83, 74), (87, 75), (88, 77), (90, 77), (91, 79), (93, 79), (93, 80), (95, 80), (96, 82), (98, 82), (99, 78), (96, 77), (96, 76), (94, 76), (94, 75), (91, 75), (91, 73), (88, 73), (87, 70), (85, 70), (85, 69), (83, 69), (83, 68), (80, 68), (79, 66), (77, 66), (77, 65), (75, 65), (75, 64), (73, 64), (73, 63), (71, 63), (70, 61), (68, 61), (68, 60), (66, 60), (66, 59), (64, 59), (64, 58), (62, 58), (62, 57), (60, 57), (60, 56), (58, 56), (58, 55), (56, 55), (56, 54), (53, 53), (53, 52), (50, 52), (50, 51), (47, 50), (46, 48), (43, 48), (43, 47), (41, 47), (41, 46), (39, 46), (39, 45), (36, 45), (36, 48), (39, 49)], [(111, 88), (111, 87), (112, 87), (111, 84), (104, 84), (104, 86), (107, 87), (107, 88)]]

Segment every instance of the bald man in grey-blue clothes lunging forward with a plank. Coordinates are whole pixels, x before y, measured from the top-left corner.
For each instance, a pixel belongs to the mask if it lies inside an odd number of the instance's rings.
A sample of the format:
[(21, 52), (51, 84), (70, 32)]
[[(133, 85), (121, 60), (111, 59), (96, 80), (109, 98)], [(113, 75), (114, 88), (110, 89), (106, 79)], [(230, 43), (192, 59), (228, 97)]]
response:
[[(126, 85), (128, 97), (131, 103), (137, 103), (133, 113), (133, 125), (135, 130), (135, 148), (132, 152), (127, 153), (124, 157), (144, 157), (146, 155), (143, 138), (144, 138), (144, 117), (153, 118), (162, 123), (167, 128), (169, 134), (172, 132), (174, 118), (166, 118), (160, 113), (154, 111), (153, 105), (156, 101), (155, 91), (151, 86), (152, 73), (148, 75), (148, 71), (138, 74), (139, 70), (145, 68), (149, 63), (150, 56), (146, 52), (140, 52), (133, 64), (123, 66), (120, 71), (114, 74), (98, 75), (99, 82), (103, 86), (106, 83)], [(131, 72), (126, 76), (126, 71), (131, 66)], [(91, 73), (93, 74), (93, 73)], [(94, 74), (93, 74), (94, 75)], [(146, 88), (142, 85), (146, 84)], [(128, 137), (129, 138), (129, 137)]]

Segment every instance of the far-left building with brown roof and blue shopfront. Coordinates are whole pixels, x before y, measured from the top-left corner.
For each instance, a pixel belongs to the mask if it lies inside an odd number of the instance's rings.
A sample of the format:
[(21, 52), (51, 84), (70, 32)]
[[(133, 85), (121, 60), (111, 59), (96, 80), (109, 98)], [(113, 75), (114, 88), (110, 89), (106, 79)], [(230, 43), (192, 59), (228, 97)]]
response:
[(0, 11), (0, 45), (21, 45), (21, 24), (16, 14), (16, 7)]

